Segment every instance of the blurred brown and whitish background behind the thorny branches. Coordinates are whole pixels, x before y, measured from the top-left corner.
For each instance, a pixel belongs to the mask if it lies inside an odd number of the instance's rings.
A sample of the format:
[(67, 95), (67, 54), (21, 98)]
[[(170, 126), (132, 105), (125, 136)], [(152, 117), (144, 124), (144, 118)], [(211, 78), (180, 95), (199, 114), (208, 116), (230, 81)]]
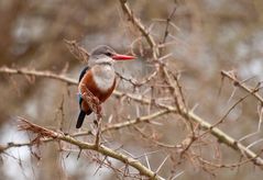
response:
[[(164, 54), (172, 53), (167, 59), (171, 70), (182, 72), (182, 86), (190, 108), (209, 121), (216, 122), (237, 101), (242, 91), (233, 92), (233, 86), (224, 80), (220, 97), (220, 70), (235, 70), (240, 79), (254, 87), (263, 81), (263, 1), (262, 0), (136, 0), (129, 1), (133, 13), (142, 23), (151, 27), (156, 42), (162, 42), (165, 33), (165, 20), (176, 7), (169, 27)], [(0, 66), (50, 70), (78, 79), (85, 64), (77, 60), (67, 49), (64, 40), (76, 40), (89, 52), (100, 44), (112, 46), (119, 53), (129, 53), (132, 43), (140, 33), (128, 23), (119, 1), (107, 0), (0, 0)], [(140, 48), (146, 49), (142, 43)], [(139, 45), (138, 45), (139, 46)], [(125, 77), (141, 79), (149, 75), (153, 65), (146, 53), (134, 50), (140, 59), (128, 64), (118, 64), (117, 70)], [(145, 50), (146, 52), (146, 50)], [(151, 86), (151, 85), (150, 85)], [(149, 87), (150, 87), (149, 86)], [(140, 90), (140, 93), (147, 87)], [(119, 82), (118, 89), (133, 92), (130, 85)], [(262, 91), (260, 92), (262, 94)], [(78, 115), (77, 87), (51, 79), (25, 76), (0, 75), (0, 143), (26, 142), (25, 133), (18, 132), (17, 116), (51, 128), (57, 128), (63, 120), (62, 130), (74, 133)], [(230, 100), (230, 102), (229, 102)], [(124, 105), (123, 105), (124, 104)], [(220, 128), (239, 139), (257, 128), (257, 102), (250, 98), (238, 105)], [(123, 116), (134, 117), (136, 105), (129, 101), (120, 102), (111, 98), (105, 104), (106, 120), (121, 122)], [(140, 108), (140, 105), (139, 105)], [(141, 108), (141, 113), (146, 110)], [(89, 117), (92, 119), (92, 117)], [(164, 121), (162, 121), (164, 119)], [(176, 121), (168, 121), (176, 119)], [(92, 121), (86, 120), (85, 128)], [(162, 116), (154, 126), (164, 142), (179, 143), (186, 131), (175, 115)], [(261, 138), (259, 133), (250, 144)], [(119, 131), (110, 134), (108, 140), (112, 147), (123, 148), (134, 156), (156, 150), (133, 134), (133, 131)], [(84, 138), (85, 139), (85, 138)], [(138, 140), (139, 139), (139, 140)], [(215, 138), (210, 137), (211, 140)], [(12, 148), (1, 154), (0, 179), (117, 179), (108, 168), (100, 169), (92, 162), (90, 155), (78, 153), (69, 156), (61, 153), (58, 143), (51, 143), (37, 149), (29, 147)], [(256, 153), (261, 145), (253, 147)], [(239, 160), (237, 151), (220, 145), (222, 161), (233, 164)], [(36, 151), (40, 159), (31, 151)], [(149, 156), (152, 169), (156, 169), (165, 156), (162, 153)], [(120, 164), (112, 160), (112, 164)], [(213, 175), (193, 165), (167, 162), (161, 170), (163, 177), (184, 170), (177, 179), (209, 179)], [(217, 179), (259, 179), (262, 170), (252, 164), (234, 169), (217, 169)], [(129, 179), (129, 178), (128, 178)]]

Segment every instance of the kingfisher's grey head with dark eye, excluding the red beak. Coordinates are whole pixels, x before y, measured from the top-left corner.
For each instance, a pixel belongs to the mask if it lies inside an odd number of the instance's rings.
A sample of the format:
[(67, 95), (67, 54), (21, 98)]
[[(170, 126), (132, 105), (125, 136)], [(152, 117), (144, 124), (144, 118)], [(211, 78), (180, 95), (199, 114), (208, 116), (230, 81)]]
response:
[(112, 57), (116, 54), (117, 53), (111, 47), (107, 45), (100, 45), (91, 52), (88, 64), (90, 67), (100, 64), (112, 65), (114, 63)]

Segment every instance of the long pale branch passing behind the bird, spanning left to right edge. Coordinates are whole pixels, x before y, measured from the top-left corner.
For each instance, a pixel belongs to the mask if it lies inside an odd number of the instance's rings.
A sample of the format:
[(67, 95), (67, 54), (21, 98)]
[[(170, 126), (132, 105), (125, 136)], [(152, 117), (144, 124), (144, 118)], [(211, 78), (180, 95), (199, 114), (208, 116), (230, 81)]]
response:
[[(8, 70), (6, 70), (6, 69), (8, 69)], [(35, 71), (35, 70), (32, 71), (32, 70), (26, 70), (26, 69), (21, 71), (18, 69), (11, 69), (11, 68), (6, 68), (6, 67), (0, 68), (0, 72), (10, 74), (10, 71), (11, 71), (11, 74), (20, 74), (20, 75), (25, 74), (25, 75), (36, 76), (36, 77), (52, 78), (52, 79), (61, 80), (63, 82), (67, 82), (69, 85), (77, 85), (77, 81), (75, 81), (70, 78), (64, 77), (62, 75), (51, 74), (50, 71), (47, 71), (47, 74), (46, 74), (46, 71)], [(120, 92), (120, 91), (114, 91), (113, 94), (117, 98), (128, 97), (131, 100), (140, 102), (142, 104), (151, 104), (152, 103), (151, 99), (145, 98), (140, 94), (124, 93), (124, 92)], [(156, 103), (157, 108), (161, 108), (163, 110), (168, 110), (169, 112), (177, 113), (177, 109), (175, 106), (163, 104), (163, 103), (157, 103), (157, 102), (155, 102), (155, 103)], [(186, 119), (188, 121), (198, 123), (199, 128), (201, 128), (204, 131), (209, 130), (211, 135), (217, 137), (220, 143), (223, 143), (223, 144), (228, 145), (229, 147), (231, 147), (232, 149), (239, 151), (241, 155), (245, 155), (245, 157), (251, 158), (252, 161), (256, 166), (259, 166), (260, 168), (263, 169), (263, 159), (261, 157), (259, 157), (255, 153), (253, 153), (252, 150), (246, 148), (243, 144), (241, 144), (240, 142), (232, 138), (227, 133), (222, 132), (218, 127), (215, 127), (212, 124), (208, 123), (207, 121), (205, 121), (204, 119), (201, 119), (200, 116), (198, 116), (197, 114), (195, 114), (191, 111), (187, 111), (187, 110), (183, 109), (180, 111), (179, 115), (182, 115), (184, 119)]]

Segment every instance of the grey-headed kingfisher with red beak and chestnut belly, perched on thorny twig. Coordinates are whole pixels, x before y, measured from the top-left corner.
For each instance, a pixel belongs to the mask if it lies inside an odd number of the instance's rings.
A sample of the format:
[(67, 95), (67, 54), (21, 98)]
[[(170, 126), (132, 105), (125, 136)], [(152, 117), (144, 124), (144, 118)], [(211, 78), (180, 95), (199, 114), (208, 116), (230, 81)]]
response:
[(116, 88), (114, 61), (131, 60), (135, 58), (135, 56), (117, 54), (107, 45), (100, 45), (91, 50), (88, 66), (83, 69), (78, 79), (80, 112), (76, 128), (80, 128), (85, 116), (92, 113), (91, 108), (81, 97), (85, 91), (84, 88), (91, 92), (92, 95), (99, 100), (99, 103), (105, 102)]

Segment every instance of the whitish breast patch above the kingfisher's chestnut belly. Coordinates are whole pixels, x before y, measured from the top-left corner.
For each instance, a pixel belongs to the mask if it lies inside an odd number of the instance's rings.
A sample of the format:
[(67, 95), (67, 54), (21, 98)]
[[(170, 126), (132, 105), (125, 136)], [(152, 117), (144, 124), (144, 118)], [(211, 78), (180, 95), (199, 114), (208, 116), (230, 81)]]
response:
[(107, 91), (113, 86), (116, 72), (111, 65), (96, 65), (91, 68), (91, 72), (94, 81), (100, 90)]

